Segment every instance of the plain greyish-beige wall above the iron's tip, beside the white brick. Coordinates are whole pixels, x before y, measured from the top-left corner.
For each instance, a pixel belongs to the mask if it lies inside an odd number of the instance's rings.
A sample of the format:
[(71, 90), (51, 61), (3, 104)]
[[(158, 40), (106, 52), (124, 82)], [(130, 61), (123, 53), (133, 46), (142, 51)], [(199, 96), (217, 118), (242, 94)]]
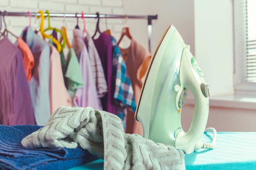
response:
[[(152, 53), (167, 24), (171, 22), (194, 55), (194, 3), (193, 0), (124, 0), (124, 12), (131, 15), (155, 15), (153, 20)], [(128, 20), (131, 35), (148, 48), (147, 20)]]

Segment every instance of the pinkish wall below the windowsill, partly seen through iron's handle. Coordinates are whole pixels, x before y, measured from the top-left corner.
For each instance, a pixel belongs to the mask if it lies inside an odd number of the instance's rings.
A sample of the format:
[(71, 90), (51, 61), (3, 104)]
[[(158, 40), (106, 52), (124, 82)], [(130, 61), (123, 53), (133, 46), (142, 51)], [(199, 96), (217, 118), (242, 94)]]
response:
[[(194, 106), (186, 105), (182, 109), (182, 128), (187, 131), (193, 117)], [(207, 128), (213, 127), (218, 132), (256, 132), (256, 111), (227, 107), (209, 108)]]

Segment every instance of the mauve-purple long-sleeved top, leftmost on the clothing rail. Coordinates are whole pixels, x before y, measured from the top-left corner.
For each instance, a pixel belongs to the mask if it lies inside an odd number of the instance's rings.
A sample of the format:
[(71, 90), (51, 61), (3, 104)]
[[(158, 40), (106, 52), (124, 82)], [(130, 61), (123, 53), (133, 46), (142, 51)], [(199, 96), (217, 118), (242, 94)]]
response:
[(35, 124), (29, 84), (20, 51), (0, 40), (0, 124)]

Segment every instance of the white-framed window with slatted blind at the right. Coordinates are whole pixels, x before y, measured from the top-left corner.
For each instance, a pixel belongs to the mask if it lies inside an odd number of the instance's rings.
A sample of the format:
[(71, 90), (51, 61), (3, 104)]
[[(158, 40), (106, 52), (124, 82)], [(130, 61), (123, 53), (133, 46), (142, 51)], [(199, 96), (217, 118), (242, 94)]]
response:
[(234, 88), (256, 95), (256, 0), (234, 2)]

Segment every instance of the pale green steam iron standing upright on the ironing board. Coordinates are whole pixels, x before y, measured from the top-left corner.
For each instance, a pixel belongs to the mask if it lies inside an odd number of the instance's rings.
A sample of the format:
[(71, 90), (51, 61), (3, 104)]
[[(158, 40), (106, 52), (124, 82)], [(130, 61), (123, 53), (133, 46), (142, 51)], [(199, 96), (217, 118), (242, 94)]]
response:
[[(195, 98), (195, 110), (188, 132), (182, 130), (182, 107), (187, 89)], [(156, 143), (174, 146), (189, 154), (200, 148), (209, 113), (209, 86), (204, 74), (175, 27), (169, 24), (160, 39), (142, 86), (135, 119), (143, 127), (143, 137)]]

